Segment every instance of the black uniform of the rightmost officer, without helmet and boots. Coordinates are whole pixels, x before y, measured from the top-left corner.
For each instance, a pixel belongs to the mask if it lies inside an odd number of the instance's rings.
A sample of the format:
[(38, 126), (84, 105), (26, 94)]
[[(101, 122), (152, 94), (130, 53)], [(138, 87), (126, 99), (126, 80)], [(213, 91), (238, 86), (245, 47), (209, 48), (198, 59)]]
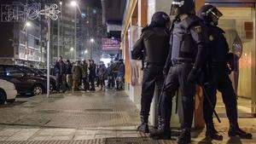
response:
[[(209, 66), (210, 66), (210, 78), (208, 81), (210, 85), (204, 85), (207, 89), (207, 93), (212, 105), (216, 105), (217, 89), (222, 93), (223, 101), (226, 107), (227, 116), (230, 121), (237, 119), (237, 101), (236, 94), (232, 87), (232, 82), (229, 77), (229, 67), (227, 66), (227, 60), (229, 55), (229, 45), (224, 37), (224, 31), (217, 26), (207, 25), (209, 33)], [(204, 118), (206, 124), (212, 124), (213, 110), (209, 108), (209, 101), (206, 100), (208, 95), (204, 95)]]

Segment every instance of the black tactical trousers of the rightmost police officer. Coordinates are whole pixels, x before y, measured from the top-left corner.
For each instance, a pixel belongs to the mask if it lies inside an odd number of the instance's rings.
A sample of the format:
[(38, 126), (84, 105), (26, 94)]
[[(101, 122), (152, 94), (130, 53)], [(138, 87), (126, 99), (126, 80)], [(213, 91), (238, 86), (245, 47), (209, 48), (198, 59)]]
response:
[(216, 106), (216, 94), (217, 89), (222, 94), (222, 99), (224, 101), (224, 105), (226, 108), (227, 117), (230, 120), (230, 123), (237, 122), (237, 101), (236, 94), (232, 86), (232, 82), (230, 80), (229, 74), (226, 71), (226, 64), (215, 65), (212, 66), (212, 78), (210, 78), (210, 82), (208, 84), (204, 84), (203, 86), (207, 90), (207, 95), (204, 94), (204, 118), (207, 124), (212, 123), (212, 115), (213, 111), (210, 108), (210, 104), (206, 99), (206, 96), (209, 96), (213, 107)]

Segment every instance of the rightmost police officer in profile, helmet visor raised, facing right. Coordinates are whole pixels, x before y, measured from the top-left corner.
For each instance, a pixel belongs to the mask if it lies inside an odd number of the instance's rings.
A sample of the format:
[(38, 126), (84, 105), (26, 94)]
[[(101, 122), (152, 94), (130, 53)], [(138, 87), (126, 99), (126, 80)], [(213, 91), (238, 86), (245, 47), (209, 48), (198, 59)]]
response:
[[(222, 93), (224, 105), (227, 112), (227, 117), (230, 122), (230, 136), (240, 136), (241, 138), (251, 139), (252, 135), (241, 130), (237, 123), (237, 101), (236, 94), (232, 87), (232, 82), (229, 78), (229, 68), (227, 61), (229, 57), (233, 59), (233, 54), (229, 54), (229, 45), (224, 37), (224, 31), (218, 27), (218, 18), (222, 16), (221, 12), (212, 5), (203, 6), (198, 16), (204, 20), (204, 23), (208, 29), (209, 36), (209, 68), (210, 77), (207, 78), (208, 83), (203, 84), (206, 91), (204, 93), (204, 118), (207, 125), (206, 136), (216, 140), (222, 140), (223, 136), (215, 130), (212, 114), (213, 111), (209, 108), (209, 101), (206, 100), (206, 96), (209, 96), (213, 107), (216, 106), (216, 91), (217, 89)], [(206, 94), (207, 93), (207, 94)]]

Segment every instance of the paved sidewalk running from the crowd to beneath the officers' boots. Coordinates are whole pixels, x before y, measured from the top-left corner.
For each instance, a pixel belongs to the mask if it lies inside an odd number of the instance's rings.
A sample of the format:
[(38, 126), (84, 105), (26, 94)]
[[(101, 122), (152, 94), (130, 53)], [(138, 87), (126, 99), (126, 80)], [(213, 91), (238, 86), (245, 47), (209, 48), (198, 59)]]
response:
[[(49, 99), (45, 95), (20, 98), (14, 104), (0, 107), (0, 113), (0, 144), (171, 144), (177, 139), (173, 136), (172, 141), (152, 141), (148, 135), (138, 133), (139, 110), (124, 92), (75, 92), (51, 95)], [(256, 143), (255, 118), (239, 119), (241, 128), (253, 133), (253, 140), (230, 139), (227, 119), (222, 121), (215, 124), (224, 141), (204, 141), (202, 130), (193, 132), (192, 143)]]

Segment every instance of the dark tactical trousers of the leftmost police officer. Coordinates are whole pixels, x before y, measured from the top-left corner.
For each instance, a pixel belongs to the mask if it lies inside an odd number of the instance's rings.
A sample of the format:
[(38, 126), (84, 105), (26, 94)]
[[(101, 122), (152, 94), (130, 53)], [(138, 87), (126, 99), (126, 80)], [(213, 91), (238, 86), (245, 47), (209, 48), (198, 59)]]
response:
[(155, 86), (158, 89), (159, 95), (162, 90), (164, 83), (163, 67), (164, 66), (148, 65), (143, 69), (141, 115), (144, 118), (148, 118)]

